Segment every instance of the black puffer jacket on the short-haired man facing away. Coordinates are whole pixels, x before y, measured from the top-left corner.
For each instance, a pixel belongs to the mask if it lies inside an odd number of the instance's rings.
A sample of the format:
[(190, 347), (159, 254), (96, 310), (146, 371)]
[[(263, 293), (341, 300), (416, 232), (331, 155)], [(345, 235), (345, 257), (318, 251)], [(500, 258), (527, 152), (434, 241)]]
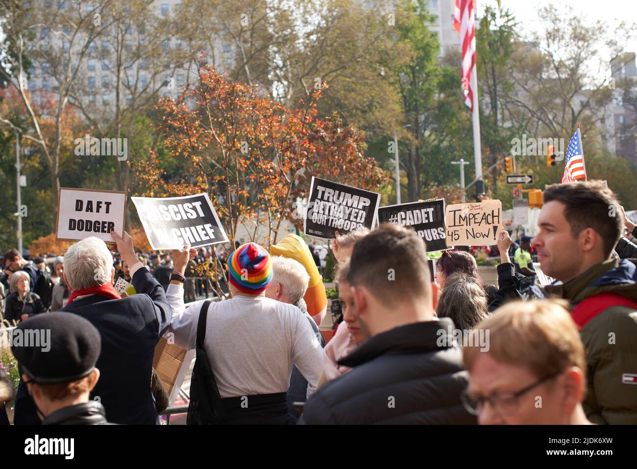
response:
[(453, 328), (441, 318), (369, 338), (339, 362), (353, 369), (311, 396), (301, 423), (475, 424), (460, 401), (468, 374), (447, 343)]

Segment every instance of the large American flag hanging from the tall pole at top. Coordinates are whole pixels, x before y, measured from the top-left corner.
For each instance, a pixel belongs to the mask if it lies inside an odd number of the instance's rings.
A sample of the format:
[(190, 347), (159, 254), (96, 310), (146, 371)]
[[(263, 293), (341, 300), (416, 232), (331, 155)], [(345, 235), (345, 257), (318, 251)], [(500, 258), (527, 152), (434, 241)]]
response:
[(464, 103), (473, 111), (473, 89), (471, 78), (475, 78), (476, 30), (473, 0), (455, 0), (454, 28), (460, 33), (462, 48), (462, 89)]

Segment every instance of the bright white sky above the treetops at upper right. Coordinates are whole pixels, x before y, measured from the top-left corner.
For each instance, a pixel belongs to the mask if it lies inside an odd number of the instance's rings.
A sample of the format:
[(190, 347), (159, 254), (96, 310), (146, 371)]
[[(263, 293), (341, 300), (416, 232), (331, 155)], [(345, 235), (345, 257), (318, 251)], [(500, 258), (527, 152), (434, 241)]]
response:
[[(538, 10), (541, 6), (553, 3), (559, 6), (570, 6), (578, 13), (585, 23), (594, 23), (600, 19), (609, 25), (621, 20), (637, 24), (637, 2), (635, 0), (502, 0), (502, 6), (511, 10), (518, 21), (523, 22), (521, 32), (532, 31), (534, 25), (539, 24)], [(485, 4), (496, 5), (496, 0), (476, 0), (477, 10), (481, 11)], [(637, 52), (637, 37), (633, 37), (626, 48), (626, 52)]]

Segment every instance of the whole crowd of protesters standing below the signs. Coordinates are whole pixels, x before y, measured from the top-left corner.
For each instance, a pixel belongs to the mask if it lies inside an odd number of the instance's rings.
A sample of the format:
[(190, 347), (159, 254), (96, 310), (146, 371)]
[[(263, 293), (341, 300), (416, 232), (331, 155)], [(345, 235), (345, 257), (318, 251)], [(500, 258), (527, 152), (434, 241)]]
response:
[[(27, 298), (38, 269), (8, 252), (6, 311), (17, 330), (50, 329), (54, 344), (13, 344), (14, 422), (159, 423), (152, 361), (170, 336), (196, 350), (190, 424), (637, 424), (637, 227), (601, 182), (547, 187), (538, 226), (514, 249), (499, 234), (497, 285), (458, 250), (434, 276), (408, 227), (338, 235), (342, 317), (327, 343), (304, 301), (308, 266), (253, 242), (224, 259), (228, 299), (187, 307), (201, 252), (145, 263), (113, 232), (113, 265), (87, 238), (55, 259), (51, 296), (64, 305), (49, 314)], [(539, 282), (531, 250), (552, 284)], [(135, 294), (115, 291), (117, 275)], [(0, 408), (13, 397), (1, 386), (0, 376)]]

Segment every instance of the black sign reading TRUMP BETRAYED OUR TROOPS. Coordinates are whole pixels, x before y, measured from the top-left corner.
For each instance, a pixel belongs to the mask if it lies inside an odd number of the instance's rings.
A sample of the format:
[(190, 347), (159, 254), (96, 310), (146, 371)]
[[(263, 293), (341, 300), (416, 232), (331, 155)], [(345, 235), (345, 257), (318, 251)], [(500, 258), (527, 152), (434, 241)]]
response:
[(312, 177), (303, 233), (333, 240), (339, 234), (362, 226), (376, 226), (380, 194)]

